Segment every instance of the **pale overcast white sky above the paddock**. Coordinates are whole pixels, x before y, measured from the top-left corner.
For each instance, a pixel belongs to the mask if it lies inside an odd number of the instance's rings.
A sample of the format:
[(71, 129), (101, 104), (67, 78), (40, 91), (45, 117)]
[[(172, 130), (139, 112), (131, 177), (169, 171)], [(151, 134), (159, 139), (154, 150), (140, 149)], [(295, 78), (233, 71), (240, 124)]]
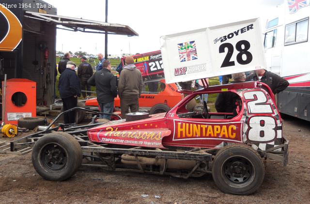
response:
[[(60, 16), (105, 21), (105, 0), (45, 0)], [(144, 53), (160, 49), (162, 35), (261, 17), (284, 0), (109, 0), (108, 22), (127, 25), (138, 37), (109, 35), (108, 54)], [(263, 32), (263, 31), (262, 31)], [(104, 54), (104, 34), (57, 31), (58, 51)]]

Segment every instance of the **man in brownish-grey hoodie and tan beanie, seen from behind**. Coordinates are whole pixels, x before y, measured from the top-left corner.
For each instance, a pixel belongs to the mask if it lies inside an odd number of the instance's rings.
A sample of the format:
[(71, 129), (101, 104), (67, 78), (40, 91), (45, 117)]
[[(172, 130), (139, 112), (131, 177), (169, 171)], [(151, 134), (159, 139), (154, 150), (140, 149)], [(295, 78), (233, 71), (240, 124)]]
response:
[(121, 113), (122, 117), (129, 112), (138, 112), (139, 97), (142, 91), (142, 75), (140, 70), (136, 68), (133, 57), (126, 57), (126, 65), (120, 75), (118, 82), (118, 95), (121, 99)]

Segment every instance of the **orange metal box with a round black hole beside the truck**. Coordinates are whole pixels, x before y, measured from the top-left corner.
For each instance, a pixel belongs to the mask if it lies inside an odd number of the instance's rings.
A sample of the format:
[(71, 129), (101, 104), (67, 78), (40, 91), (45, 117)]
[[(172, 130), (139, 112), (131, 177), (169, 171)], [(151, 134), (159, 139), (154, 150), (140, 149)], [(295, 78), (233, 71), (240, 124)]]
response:
[[(2, 81), (2, 87), (4, 81)], [(3, 89), (2, 89), (3, 90)], [(4, 95), (2, 94), (2, 101)], [(36, 82), (26, 78), (11, 78), (6, 81), (4, 123), (17, 125), (23, 117), (36, 117)]]

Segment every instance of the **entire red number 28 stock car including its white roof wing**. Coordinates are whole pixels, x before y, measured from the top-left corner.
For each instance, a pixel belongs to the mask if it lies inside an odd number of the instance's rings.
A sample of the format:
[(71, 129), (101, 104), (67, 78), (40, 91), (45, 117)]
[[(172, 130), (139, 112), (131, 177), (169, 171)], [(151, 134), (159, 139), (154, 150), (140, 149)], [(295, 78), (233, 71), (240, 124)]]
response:
[[(265, 67), (261, 33), (259, 19), (250, 19), (162, 36), (166, 82), (201, 78), (202, 89), (179, 91), (187, 96), (167, 113), (129, 113), (126, 119), (84, 126), (50, 124), (11, 142), (11, 151), (33, 146), (35, 170), (52, 181), (70, 178), (85, 157), (87, 165), (114, 171), (181, 178), (212, 173), (225, 193), (253, 193), (263, 183), (264, 159), (288, 162), (289, 142), (274, 95), (259, 81), (208, 87), (205, 78)], [(195, 109), (202, 94), (224, 97), (229, 112), (209, 112), (206, 101)]]

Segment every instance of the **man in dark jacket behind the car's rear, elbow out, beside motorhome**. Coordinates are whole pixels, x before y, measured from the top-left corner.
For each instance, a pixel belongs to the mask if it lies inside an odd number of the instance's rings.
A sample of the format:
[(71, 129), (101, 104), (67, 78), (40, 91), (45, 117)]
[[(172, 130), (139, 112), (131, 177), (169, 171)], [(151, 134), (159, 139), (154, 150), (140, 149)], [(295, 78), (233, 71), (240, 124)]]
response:
[[(257, 74), (258, 74), (258, 78), (257, 78), (256, 73), (254, 72), (253, 74), (250, 74), (246, 78), (246, 81), (257, 81), (257, 80), (259, 80), (259, 81), (267, 84), (270, 87), (273, 94), (278, 94), (278, 93), (282, 92), (290, 84), (284, 78), (282, 78), (282, 77), (280, 77), (280, 76), (278, 76), (272, 72), (269, 72), (265, 69), (257, 70)], [(262, 88), (268, 92), (266, 87), (262, 87)]]

